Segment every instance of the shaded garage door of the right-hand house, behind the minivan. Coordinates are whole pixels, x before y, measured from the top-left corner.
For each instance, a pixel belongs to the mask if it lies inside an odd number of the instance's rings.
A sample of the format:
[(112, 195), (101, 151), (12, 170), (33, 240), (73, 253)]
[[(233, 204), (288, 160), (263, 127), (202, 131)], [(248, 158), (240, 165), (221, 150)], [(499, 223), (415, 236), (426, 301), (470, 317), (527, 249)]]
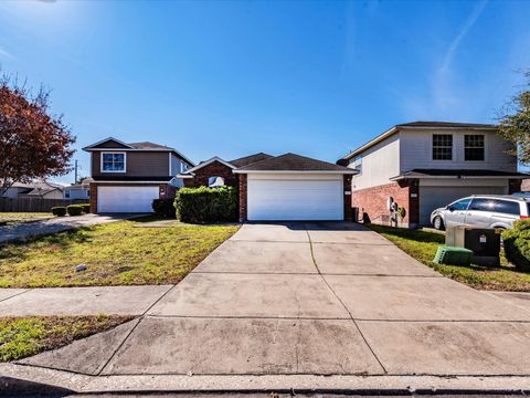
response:
[(505, 195), (505, 187), (420, 187), (420, 222), (431, 224), (434, 209), (471, 195)]

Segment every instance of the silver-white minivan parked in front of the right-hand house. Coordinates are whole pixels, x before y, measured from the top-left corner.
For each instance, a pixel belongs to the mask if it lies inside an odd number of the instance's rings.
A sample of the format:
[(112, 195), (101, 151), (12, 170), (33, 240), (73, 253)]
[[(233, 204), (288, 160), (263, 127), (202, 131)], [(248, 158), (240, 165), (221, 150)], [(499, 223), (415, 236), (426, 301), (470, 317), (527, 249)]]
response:
[(510, 229), (513, 221), (530, 217), (530, 199), (517, 196), (473, 196), (454, 201), (431, 213), (431, 223), (437, 230), (460, 224), (476, 228)]

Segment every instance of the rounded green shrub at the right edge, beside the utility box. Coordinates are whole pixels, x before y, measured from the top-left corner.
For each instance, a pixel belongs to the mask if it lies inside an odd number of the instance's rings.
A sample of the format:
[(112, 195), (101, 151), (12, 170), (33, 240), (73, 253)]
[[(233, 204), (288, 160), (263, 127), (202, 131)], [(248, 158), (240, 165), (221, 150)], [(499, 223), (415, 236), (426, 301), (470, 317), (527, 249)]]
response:
[(513, 229), (502, 233), (505, 254), (518, 270), (530, 271), (530, 220), (513, 222)]

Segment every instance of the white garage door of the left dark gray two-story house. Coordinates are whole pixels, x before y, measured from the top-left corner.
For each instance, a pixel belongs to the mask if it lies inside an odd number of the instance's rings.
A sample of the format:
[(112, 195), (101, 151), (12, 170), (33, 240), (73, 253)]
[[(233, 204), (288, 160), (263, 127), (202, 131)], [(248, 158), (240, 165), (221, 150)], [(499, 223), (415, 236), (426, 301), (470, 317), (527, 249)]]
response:
[(97, 187), (97, 212), (152, 212), (158, 186)]

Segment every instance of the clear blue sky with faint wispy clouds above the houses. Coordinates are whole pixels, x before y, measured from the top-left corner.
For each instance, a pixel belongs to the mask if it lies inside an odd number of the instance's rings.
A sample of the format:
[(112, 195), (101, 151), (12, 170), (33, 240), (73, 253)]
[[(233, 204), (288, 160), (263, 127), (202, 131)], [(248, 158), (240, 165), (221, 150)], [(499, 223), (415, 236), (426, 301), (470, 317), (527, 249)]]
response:
[[(485, 122), (530, 67), (529, 1), (2, 1), (0, 65), (81, 147), (335, 161), (388, 127)], [(71, 176), (62, 178), (70, 182)]]

